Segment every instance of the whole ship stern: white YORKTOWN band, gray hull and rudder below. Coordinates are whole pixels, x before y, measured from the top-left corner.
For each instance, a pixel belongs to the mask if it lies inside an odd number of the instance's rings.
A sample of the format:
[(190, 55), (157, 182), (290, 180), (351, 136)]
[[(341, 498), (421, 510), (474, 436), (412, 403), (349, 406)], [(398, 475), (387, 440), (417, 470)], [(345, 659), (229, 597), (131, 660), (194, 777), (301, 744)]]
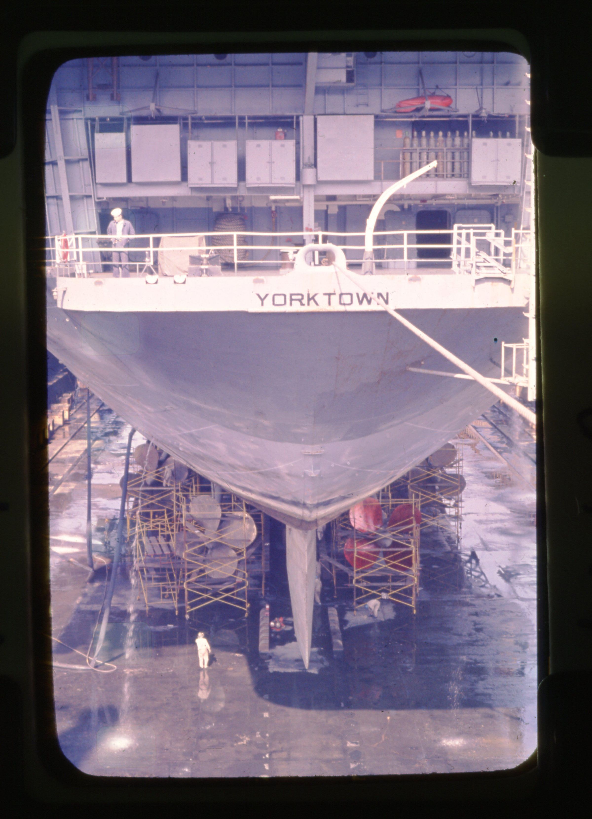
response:
[[(518, 278), (518, 277), (517, 277)], [(254, 278), (49, 282), (48, 346), (163, 450), (287, 524), (294, 631), (308, 667), (316, 527), (407, 472), (493, 403), (398, 311), (485, 376), (526, 334), (527, 277), (336, 269)], [(55, 285), (55, 286), (54, 286)]]

